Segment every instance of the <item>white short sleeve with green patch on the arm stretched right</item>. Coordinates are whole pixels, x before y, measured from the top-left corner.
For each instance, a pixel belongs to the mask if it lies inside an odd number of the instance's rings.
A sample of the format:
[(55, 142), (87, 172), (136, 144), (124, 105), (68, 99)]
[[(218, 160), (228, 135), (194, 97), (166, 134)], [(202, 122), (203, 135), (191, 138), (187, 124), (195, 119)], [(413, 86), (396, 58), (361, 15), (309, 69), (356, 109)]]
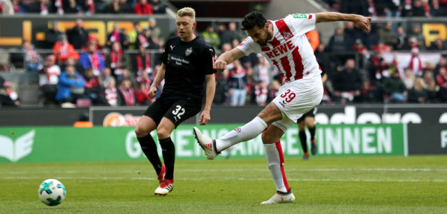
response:
[(296, 35), (306, 34), (315, 28), (315, 14), (314, 13), (295, 13), (286, 16), (286, 22), (291, 23), (295, 29)]

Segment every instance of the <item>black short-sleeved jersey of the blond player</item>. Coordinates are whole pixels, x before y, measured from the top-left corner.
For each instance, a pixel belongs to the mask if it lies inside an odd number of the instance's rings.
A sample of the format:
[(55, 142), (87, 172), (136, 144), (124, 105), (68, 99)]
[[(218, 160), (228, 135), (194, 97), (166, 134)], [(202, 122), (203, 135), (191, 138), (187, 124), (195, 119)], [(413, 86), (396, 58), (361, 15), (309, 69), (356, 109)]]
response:
[(202, 101), (205, 75), (215, 72), (214, 55), (214, 48), (199, 36), (189, 42), (169, 38), (161, 57), (166, 66), (161, 97)]

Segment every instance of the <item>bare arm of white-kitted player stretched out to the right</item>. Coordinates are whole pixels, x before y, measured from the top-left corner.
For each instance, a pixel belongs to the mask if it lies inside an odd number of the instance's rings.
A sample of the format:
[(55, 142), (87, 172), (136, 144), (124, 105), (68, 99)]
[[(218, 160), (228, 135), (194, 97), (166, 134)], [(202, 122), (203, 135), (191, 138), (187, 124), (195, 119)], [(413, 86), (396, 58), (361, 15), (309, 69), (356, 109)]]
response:
[(354, 22), (354, 26), (369, 31), (369, 22), (371, 22), (371, 17), (365, 17), (356, 14), (345, 14), (337, 12), (323, 12), (315, 13), (315, 22), (337, 22), (337, 21), (351, 21)]

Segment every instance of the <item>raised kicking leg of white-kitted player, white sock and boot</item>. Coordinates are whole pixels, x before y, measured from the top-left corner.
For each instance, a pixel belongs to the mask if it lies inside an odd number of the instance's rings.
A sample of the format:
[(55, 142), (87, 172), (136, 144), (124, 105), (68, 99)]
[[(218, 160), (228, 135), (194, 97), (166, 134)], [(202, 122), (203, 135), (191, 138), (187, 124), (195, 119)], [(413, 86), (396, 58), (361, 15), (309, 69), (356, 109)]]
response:
[(281, 110), (274, 103), (268, 104), (253, 120), (244, 124), (242, 127), (237, 127), (226, 135), (213, 140), (212, 138), (203, 135), (197, 127), (194, 127), (194, 134), (199, 145), (203, 148), (207, 159), (214, 159), (219, 152), (226, 148), (240, 142), (249, 141), (255, 138), (261, 132), (272, 124), (272, 122), (281, 120)]

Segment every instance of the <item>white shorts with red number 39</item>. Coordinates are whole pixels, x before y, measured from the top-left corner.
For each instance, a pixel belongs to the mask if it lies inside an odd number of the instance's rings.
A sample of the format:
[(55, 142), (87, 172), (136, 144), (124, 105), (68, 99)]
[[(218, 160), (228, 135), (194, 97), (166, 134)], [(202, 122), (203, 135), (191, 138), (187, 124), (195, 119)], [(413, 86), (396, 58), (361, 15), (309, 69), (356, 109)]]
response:
[(302, 115), (318, 106), (322, 98), (323, 82), (319, 75), (285, 83), (272, 101), (281, 110), (282, 120), (272, 124), (286, 132)]

